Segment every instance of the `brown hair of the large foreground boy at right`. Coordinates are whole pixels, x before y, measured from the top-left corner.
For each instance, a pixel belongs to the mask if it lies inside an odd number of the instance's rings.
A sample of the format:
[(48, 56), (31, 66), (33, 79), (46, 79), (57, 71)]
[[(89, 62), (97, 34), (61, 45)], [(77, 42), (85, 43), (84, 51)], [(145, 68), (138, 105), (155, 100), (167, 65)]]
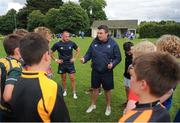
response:
[(143, 54), (132, 65), (137, 80), (146, 80), (150, 93), (156, 97), (163, 96), (180, 80), (180, 64), (168, 53)]

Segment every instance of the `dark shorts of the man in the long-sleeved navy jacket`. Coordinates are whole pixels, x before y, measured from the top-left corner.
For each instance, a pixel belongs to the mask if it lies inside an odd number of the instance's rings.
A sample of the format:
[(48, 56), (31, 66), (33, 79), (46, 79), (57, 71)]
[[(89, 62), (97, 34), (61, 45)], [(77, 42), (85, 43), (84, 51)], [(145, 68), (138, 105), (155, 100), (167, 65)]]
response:
[(95, 70), (91, 72), (91, 88), (97, 89), (102, 84), (104, 90), (114, 89), (113, 71), (99, 73)]

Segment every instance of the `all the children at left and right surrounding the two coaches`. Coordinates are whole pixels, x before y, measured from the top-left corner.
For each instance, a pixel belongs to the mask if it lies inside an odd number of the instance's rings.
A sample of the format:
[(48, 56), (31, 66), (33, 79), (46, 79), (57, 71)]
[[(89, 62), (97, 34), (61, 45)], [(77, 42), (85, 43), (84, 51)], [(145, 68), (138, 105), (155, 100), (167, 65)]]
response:
[[(49, 79), (50, 41), (50, 30), (45, 27), (34, 33), (17, 30), (4, 39), (7, 57), (0, 59), (1, 121), (70, 121), (62, 88)], [(175, 59), (180, 58), (180, 39), (164, 35), (156, 45), (126, 42), (123, 48), (128, 100), (119, 122), (170, 122), (166, 108), (180, 80), (180, 64)]]

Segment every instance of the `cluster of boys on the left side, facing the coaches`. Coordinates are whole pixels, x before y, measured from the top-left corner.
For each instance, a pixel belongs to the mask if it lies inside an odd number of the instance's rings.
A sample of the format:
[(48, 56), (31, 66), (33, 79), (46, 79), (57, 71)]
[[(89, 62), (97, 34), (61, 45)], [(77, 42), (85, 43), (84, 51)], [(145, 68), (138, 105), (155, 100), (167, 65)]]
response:
[(18, 29), (4, 39), (7, 57), (0, 60), (2, 122), (70, 121), (61, 86), (48, 78), (50, 40), (45, 27), (31, 33)]

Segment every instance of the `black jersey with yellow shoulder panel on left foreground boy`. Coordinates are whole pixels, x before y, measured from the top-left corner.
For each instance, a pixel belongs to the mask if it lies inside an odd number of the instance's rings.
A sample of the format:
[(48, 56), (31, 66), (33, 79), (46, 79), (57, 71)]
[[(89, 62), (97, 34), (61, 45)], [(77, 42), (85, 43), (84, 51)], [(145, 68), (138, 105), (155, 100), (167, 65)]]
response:
[(70, 121), (62, 88), (45, 72), (23, 71), (10, 104), (15, 121)]

